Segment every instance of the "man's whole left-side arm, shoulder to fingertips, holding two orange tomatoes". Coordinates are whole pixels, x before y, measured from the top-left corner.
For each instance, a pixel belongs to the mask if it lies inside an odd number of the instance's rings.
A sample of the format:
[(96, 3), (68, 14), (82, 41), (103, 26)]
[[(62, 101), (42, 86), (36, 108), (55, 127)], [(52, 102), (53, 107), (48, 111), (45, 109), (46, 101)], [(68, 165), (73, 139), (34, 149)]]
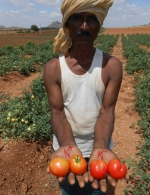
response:
[[(55, 156), (60, 156), (68, 160), (73, 155), (81, 155), (81, 151), (75, 143), (71, 126), (65, 116), (63, 97), (60, 88), (60, 72), (60, 66), (56, 59), (49, 61), (44, 66), (44, 83), (51, 109), (52, 131), (56, 135), (60, 145), (60, 148), (51, 154), (50, 159)], [(76, 175), (76, 179), (80, 187), (84, 187), (85, 182), (88, 181), (88, 173), (86, 172), (83, 176)], [(58, 178), (59, 182), (62, 182), (63, 180), (63, 177)], [(75, 183), (75, 175), (72, 172), (68, 174), (68, 181), (71, 185)]]

